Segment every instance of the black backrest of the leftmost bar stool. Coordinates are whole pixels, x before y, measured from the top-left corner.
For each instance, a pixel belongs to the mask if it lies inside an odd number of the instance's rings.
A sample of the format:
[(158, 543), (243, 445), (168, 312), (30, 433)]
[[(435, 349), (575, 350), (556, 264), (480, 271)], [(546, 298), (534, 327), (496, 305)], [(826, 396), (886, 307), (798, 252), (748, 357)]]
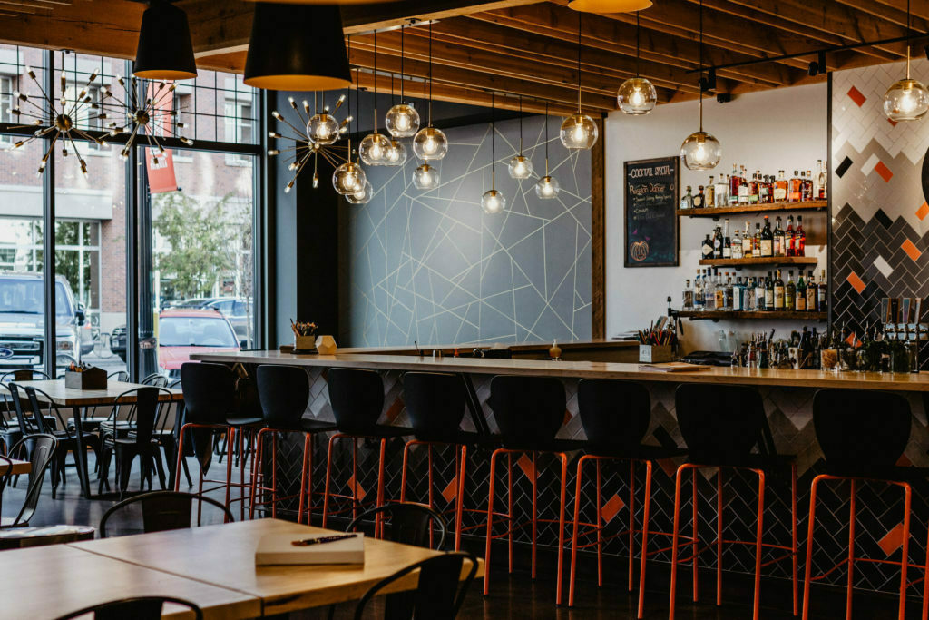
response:
[(232, 371), (221, 363), (188, 362), (180, 367), (185, 420), (197, 424), (225, 424), (232, 411)]

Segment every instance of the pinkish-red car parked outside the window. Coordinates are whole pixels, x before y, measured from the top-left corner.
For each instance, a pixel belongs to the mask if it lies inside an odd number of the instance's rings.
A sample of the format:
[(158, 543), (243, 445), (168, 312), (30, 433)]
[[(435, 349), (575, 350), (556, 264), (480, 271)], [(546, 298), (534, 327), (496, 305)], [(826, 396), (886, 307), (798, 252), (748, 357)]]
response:
[(229, 319), (216, 310), (163, 310), (158, 315), (158, 367), (176, 376), (191, 353), (239, 350)]

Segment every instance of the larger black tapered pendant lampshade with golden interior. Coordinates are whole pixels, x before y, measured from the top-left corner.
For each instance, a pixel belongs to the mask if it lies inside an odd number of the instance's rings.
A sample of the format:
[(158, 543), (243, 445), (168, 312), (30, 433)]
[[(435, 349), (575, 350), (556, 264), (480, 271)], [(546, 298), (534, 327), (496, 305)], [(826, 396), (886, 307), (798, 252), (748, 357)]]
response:
[(339, 7), (256, 3), (244, 82), (268, 90), (351, 87)]

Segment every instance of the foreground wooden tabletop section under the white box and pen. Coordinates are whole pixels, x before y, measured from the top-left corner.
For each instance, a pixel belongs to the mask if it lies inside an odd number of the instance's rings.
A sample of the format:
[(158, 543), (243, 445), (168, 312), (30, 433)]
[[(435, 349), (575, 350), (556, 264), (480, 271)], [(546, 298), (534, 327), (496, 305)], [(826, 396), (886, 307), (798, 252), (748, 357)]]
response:
[[(359, 600), (381, 579), (441, 553), (365, 538), (364, 564), (255, 566), (255, 548), (265, 534), (293, 534), (296, 539), (324, 533), (339, 534), (291, 521), (259, 519), (104, 538), (67, 546), (254, 597), (261, 601), (264, 615)], [(3, 560), (0, 554), (0, 561)], [(463, 578), (468, 569), (465, 562)], [(483, 574), (483, 561), (479, 561), (477, 577)], [(418, 578), (416, 573), (408, 574), (383, 592), (412, 589)]]

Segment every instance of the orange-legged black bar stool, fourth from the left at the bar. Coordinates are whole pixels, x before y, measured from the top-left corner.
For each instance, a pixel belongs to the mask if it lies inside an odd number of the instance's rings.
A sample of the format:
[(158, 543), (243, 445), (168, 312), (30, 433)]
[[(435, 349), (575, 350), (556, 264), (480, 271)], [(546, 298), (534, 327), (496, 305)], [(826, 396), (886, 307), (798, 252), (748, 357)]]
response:
[[(433, 495), (433, 447), (455, 447), (455, 550), (461, 548), (462, 513), (465, 509), (481, 512), (478, 508), (464, 508), (464, 465), (469, 445), (485, 447), (499, 445), (490, 435), (481, 435), (461, 429), (466, 396), (460, 376), (448, 373), (407, 373), (403, 376), (403, 400), (410, 416), (414, 439), (403, 447), (403, 470), (400, 476), (400, 501), (406, 501), (407, 465), (410, 449), (425, 445), (428, 461), (429, 508), (435, 509)], [(474, 527), (481, 527), (476, 525)]]

